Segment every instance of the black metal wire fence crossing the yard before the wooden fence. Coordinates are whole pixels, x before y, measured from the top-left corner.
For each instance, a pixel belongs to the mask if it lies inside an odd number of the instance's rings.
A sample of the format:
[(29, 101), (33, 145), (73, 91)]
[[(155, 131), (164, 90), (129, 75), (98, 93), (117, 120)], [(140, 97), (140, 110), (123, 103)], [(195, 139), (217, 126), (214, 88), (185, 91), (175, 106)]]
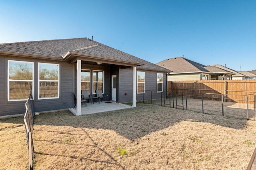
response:
[(236, 119), (256, 117), (255, 95), (222, 95), (219, 93), (169, 93), (144, 91), (143, 103), (169, 106), (211, 115), (222, 115)]

